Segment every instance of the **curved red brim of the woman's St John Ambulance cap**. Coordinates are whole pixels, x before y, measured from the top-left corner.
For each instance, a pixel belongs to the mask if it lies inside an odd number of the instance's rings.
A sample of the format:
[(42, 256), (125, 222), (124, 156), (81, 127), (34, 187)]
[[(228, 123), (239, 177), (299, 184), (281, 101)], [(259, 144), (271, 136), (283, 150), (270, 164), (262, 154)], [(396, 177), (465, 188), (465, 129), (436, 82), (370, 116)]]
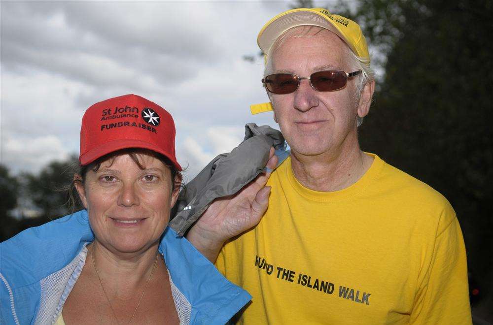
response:
[(167, 153), (162, 149), (160, 149), (159, 147), (152, 145), (148, 142), (141, 140), (132, 140), (132, 139), (119, 139), (119, 140), (105, 142), (89, 150), (83, 155), (80, 155), (79, 162), (81, 165), (84, 166), (114, 151), (128, 149), (128, 148), (141, 148), (141, 149), (149, 149), (155, 151), (168, 158), (173, 163), (173, 165), (178, 169), (178, 171), (182, 170), (179, 163), (176, 162), (176, 160), (173, 158), (173, 155), (171, 155), (170, 153)]

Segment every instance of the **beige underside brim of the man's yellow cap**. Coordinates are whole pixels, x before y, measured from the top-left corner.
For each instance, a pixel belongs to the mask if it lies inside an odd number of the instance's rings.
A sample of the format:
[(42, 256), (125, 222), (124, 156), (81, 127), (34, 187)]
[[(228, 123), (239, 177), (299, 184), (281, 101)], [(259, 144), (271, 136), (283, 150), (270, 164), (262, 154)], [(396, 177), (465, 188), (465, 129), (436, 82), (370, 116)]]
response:
[[(313, 9), (290, 10), (274, 17), (259, 32), (257, 43), (262, 52), (269, 53), (276, 39), (287, 30), (297, 26), (318, 26), (337, 34), (351, 48), (337, 26), (327, 20), (322, 13)], [(354, 49), (353, 49), (354, 50)]]

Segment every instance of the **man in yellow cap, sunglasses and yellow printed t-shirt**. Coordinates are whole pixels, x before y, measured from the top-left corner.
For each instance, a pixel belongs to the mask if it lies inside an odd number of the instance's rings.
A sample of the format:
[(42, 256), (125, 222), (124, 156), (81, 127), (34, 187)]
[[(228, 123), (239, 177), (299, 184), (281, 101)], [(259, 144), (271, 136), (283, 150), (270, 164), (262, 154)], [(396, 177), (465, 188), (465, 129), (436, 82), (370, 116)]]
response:
[(269, 21), (258, 43), (272, 106), (252, 112), (272, 107), (291, 156), (267, 187), (263, 176), (214, 203), (188, 235), (211, 260), (220, 250), (218, 269), (253, 296), (240, 321), (471, 324), (453, 208), (359, 149), (375, 85), (359, 26), (294, 9)]

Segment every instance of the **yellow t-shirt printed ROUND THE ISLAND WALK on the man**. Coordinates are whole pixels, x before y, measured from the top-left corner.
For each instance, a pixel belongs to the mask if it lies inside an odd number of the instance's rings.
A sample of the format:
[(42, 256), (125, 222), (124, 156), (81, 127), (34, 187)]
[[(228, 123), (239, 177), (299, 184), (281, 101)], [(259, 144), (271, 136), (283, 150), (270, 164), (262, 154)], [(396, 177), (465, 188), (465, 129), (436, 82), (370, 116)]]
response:
[(375, 155), (336, 192), (303, 187), (288, 158), (260, 224), (216, 265), (253, 296), (245, 324), (471, 324), (462, 233), (450, 203)]

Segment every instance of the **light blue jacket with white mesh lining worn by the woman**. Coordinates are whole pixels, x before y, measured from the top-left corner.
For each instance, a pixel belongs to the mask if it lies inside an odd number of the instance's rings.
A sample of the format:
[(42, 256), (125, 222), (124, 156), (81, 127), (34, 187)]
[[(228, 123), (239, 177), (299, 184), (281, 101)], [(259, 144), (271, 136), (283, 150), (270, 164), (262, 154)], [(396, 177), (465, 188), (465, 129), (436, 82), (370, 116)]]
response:
[[(0, 324), (53, 324), (94, 240), (85, 210), (0, 243)], [(159, 245), (180, 324), (225, 324), (251, 296), (166, 228)]]

